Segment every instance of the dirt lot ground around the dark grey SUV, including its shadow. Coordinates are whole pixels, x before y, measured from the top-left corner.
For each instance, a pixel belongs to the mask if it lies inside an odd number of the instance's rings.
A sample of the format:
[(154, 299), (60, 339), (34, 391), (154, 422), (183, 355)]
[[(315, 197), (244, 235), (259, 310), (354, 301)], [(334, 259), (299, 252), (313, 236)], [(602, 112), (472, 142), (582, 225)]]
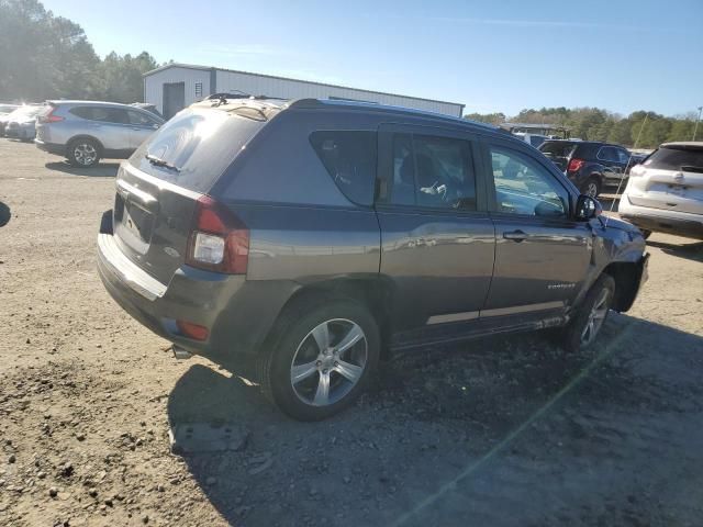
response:
[[(0, 525), (703, 525), (702, 243), (652, 235), (649, 282), (590, 352), (415, 351), (300, 424), (103, 291), (115, 171), (0, 139)], [(236, 450), (171, 453), (188, 423)]]

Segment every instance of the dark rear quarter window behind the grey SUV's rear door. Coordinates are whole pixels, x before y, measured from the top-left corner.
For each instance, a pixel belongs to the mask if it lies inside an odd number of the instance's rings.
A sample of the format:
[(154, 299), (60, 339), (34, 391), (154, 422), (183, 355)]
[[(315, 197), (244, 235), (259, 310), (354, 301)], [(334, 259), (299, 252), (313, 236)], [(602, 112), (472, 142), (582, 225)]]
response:
[(310, 143), (347, 199), (364, 205), (373, 202), (376, 132), (313, 132)]

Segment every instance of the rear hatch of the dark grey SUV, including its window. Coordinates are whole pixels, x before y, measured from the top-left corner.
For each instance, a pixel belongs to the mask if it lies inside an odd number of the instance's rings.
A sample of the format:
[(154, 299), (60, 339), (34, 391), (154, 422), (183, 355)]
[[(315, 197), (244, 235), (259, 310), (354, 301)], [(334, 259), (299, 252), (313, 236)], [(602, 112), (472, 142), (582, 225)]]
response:
[(261, 130), (264, 116), (234, 105), (196, 104), (168, 121), (122, 164), (113, 228), (130, 260), (161, 283), (170, 281), (185, 261), (198, 199)]

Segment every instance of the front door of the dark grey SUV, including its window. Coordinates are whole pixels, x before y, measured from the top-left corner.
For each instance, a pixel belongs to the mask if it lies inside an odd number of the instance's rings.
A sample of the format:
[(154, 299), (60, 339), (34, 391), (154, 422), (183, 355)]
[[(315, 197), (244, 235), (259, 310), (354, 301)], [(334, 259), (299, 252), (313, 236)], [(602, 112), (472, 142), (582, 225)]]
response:
[(501, 141), (484, 145), (496, 245), (481, 318), (562, 314), (587, 276), (591, 228), (571, 220), (569, 192), (546, 158)]

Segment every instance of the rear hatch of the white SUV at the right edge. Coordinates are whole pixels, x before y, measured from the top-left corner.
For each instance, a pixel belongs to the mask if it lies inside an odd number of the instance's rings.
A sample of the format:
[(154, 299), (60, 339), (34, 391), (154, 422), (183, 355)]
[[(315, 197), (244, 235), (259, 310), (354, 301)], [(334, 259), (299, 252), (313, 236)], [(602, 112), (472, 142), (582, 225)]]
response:
[(703, 214), (703, 143), (662, 145), (631, 171), (634, 205)]

